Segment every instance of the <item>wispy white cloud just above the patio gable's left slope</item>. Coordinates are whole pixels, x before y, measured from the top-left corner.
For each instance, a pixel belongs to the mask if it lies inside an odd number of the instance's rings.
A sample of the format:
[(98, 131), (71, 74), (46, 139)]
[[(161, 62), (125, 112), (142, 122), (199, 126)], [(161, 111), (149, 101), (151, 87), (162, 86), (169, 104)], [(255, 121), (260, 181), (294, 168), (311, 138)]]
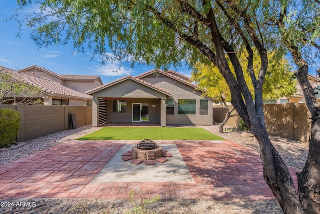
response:
[(118, 63), (106, 63), (103, 66), (96, 66), (92, 70), (101, 76), (125, 76), (133, 73), (132, 69), (120, 66)]

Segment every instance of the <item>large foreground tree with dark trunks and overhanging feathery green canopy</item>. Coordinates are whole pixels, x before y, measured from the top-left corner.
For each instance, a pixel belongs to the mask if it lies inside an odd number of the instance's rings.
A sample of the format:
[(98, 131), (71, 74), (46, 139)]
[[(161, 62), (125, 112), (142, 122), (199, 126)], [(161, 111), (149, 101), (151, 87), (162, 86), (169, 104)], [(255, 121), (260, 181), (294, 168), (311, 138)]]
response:
[[(319, 48), (318, 0), (42, 0), (26, 17), (38, 46), (73, 43), (102, 60), (126, 59), (158, 68), (213, 64), (230, 90), (231, 104), (260, 147), (263, 177), (285, 213), (320, 211), (320, 107), (307, 81), (310, 50)], [(21, 8), (31, 0), (18, 0)], [(22, 24), (22, 22), (20, 22)], [(113, 55), (106, 54), (109, 46)], [(253, 65), (257, 51), (259, 65)], [(246, 53), (244, 70), (240, 55)], [(270, 61), (291, 53), (296, 77), (312, 115), (309, 154), (298, 194), (266, 132), (262, 88)], [(317, 56), (314, 54), (312, 56)], [(230, 63), (229, 63), (230, 62)], [(234, 72), (232, 72), (234, 71)], [(245, 81), (248, 71), (250, 81)], [(276, 80), (277, 81), (277, 80)], [(253, 87), (253, 96), (250, 87)], [(318, 121), (319, 120), (319, 121)]]

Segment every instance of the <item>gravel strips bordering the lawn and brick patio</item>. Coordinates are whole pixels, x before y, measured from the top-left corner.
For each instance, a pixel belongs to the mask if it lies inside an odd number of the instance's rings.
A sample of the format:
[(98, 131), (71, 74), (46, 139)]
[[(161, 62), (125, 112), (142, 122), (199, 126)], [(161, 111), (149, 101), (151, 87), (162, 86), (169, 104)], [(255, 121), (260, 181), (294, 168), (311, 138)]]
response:
[[(255, 138), (249, 133), (235, 131), (218, 133), (218, 125), (199, 127), (259, 152)], [(86, 125), (25, 141), (26, 144), (21, 147), (1, 151), (0, 165), (98, 129), (98, 127)], [(270, 139), (288, 166), (298, 170), (303, 168), (308, 153), (307, 144), (279, 137), (270, 137)], [(22, 205), (17, 205), (21, 201)], [(0, 213), (133, 213), (131, 211), (135, 207), (134, 204), (139, 206), (141, 200), (132, 202), (129, 200), (9, 198), (0, 199), (0, 203)], [(179, 199), (159, 200), (144, 205), (151, 213), (282, 213), (275, 199), (263, 201), (246, 201), (245, 198), (241, 201)]]

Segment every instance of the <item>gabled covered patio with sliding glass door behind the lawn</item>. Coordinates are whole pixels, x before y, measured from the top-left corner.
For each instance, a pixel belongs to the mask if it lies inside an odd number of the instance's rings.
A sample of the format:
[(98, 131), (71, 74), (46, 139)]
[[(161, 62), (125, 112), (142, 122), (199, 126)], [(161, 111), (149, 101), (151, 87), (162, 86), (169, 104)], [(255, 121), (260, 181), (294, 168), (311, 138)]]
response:
[(166, 125), (165, 100), (171, 93), (138, 78), (128, 75), (88, 94), (93, 97), (93, 126), (107, 123)]

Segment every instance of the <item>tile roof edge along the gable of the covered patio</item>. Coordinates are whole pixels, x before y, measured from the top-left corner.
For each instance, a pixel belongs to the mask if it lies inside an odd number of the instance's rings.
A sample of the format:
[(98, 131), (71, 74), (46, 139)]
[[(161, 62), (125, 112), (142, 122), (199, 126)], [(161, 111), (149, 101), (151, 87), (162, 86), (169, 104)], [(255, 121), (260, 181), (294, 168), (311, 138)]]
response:
[(166, 95), (168, 95), (168, 96), (170, 96), (170, 95), (172, 94), (171, 92), (169, 92), (169, 91), (167, 91), (167, 90), (161, 89), (161, 88), (159, 88), (159, 87), (157, 87), (157, 86), (155, 86), (155, 85), (152, 85), (152, 84), (150, 84), (150, 83), (148, 83), (148, 82), (145, 82), (145, 81), (143, 81), (143, 80), (141, 80), (141, 79), (139, 79), (139, 78), (137, 78), (137, 77), (132, 77), (131, 75), (124, 76), (124, 77), (122, 77), (122, 78), (120, 78), (120, 79), (114, 80), (114, 81), (109, 82), (109, 83), (107, 83), (107, 84), (104, 84), (104, 85), (102, 85), (102, 86), (99, 86), (99, 87), (96, 87), (96, 88), (91, 89), (91, 90), (89, 90), (89, 91), (86, 91), (85, 93), (86, 93), (86, 94), (93, 94), (94, 92), (97, 92), (97, 91), (100, 91), (100, 90), (102, 90), (102, 89), (108, 88), (108, 87), (110, 87), (110, 86), (112, 86), (112, 85), (115, 85), (115, 84), (117, 84), (117, 83), (123, 82), (123, 81), (128, 80), (128, 79), (129, 79), (129, 80), (133, 80), (133, 81), (135, 81), (135, 82), (137, 82), (137, 83), (140, 83), (140, 84), (142, 84), (142, 85), (145, 85), (145, 86), (147, 86), (147, 87), (149, 87), (149, 88), (152, 88), (152, 89), (154, 89), (154, 90), (156, 90), (156, 91), (159, 91), (159, 92), (161, 92), (161, 93), (163, 93), (163, 94), (166, 94)]

